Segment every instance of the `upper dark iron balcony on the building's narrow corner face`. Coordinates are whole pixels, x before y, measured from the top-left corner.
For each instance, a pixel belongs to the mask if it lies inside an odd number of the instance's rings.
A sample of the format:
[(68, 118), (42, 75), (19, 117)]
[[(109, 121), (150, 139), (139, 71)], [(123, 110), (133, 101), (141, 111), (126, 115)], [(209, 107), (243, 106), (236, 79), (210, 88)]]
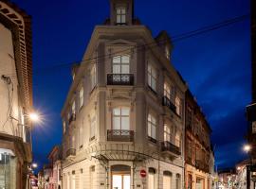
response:
[(108, 74), (108, 85), (134, 85), (133, 74)]

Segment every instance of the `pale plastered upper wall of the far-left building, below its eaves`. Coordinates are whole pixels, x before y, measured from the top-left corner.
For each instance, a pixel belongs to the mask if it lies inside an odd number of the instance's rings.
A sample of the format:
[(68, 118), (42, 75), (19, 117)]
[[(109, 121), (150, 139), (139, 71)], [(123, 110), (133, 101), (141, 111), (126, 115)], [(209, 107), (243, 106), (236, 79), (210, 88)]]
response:
[[(10, 78), (12, 84), (2, 79)], [(13, 88), (13, 91), (12, 91)], [(18, 100), (18, 80), (10, 30), (0, 23), (0, 132), (24, 138), (21, 112)], [(12, 119), (10, 118), (13, 117)], [(20, 121), (18, 121), (20, 120)]]

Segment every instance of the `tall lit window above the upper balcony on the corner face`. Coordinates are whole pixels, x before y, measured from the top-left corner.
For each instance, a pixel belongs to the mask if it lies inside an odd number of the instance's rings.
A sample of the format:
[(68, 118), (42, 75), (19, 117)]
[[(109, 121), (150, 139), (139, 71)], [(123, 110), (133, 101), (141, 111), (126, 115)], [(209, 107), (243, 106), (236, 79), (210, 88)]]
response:
[(113, 57), (112, 62), (113, 74), (129, 74), (130, 73), (130, 56), (119, 55)]

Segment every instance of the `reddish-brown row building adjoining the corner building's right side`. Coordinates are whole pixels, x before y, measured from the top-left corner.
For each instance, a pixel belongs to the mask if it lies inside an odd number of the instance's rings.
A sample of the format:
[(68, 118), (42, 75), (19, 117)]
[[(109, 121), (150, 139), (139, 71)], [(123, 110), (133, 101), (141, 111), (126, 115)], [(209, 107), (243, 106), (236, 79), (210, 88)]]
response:
[(210, 125), (188, 90), (185, 98), (185, 180), (188, 189), (210, 189), (214, 185), (214, 157)]

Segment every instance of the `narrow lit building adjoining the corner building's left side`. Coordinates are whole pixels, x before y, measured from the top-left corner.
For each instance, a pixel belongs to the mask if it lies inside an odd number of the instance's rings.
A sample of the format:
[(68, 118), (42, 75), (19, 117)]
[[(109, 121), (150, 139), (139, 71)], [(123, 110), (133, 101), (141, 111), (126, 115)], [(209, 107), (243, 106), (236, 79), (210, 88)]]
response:
[(62, 188), (62, 150), (60, 146), (54, 146), (48, 155), (49, 164), (52, 167), (52, 175), (49, 177), (50, 189)]

